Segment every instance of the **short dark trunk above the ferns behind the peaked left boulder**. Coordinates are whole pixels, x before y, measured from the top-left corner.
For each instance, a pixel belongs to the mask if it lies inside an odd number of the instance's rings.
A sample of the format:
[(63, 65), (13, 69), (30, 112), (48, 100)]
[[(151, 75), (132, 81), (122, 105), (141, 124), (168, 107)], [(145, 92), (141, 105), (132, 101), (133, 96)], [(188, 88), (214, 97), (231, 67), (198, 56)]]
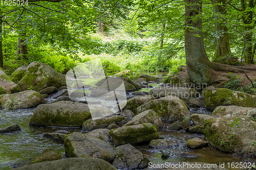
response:
[[(19, 36), (25, 37), (27, 33), (19, 33)], [(23, 42), (25, 41), (25, 38), (18, 38), (18, 48), (16, 53), (16, 59), (25, 59), (28, 60), (28, 45), (24, 45)]]

